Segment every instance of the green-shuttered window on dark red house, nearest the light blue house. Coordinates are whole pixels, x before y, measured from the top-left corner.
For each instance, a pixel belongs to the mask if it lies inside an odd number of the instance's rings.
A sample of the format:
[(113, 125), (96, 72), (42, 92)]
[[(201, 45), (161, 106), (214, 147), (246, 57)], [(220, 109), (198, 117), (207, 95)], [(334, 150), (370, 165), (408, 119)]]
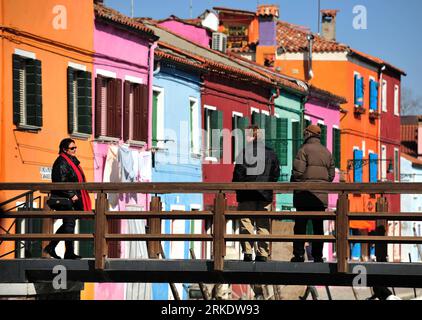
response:
[(223, 112), (214, 107), (205, 106), (205, 156), (221, 159), (223, 156)]

